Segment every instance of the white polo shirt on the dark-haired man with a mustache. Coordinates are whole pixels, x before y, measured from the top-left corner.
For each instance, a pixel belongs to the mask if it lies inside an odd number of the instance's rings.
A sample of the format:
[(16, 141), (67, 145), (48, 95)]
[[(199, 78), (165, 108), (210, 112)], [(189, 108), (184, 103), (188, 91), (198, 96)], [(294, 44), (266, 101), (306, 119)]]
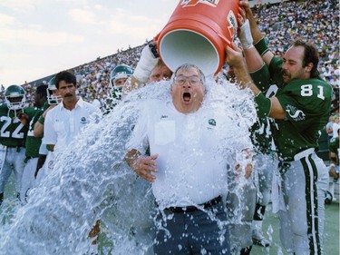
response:
[(44, 121), (44, 144), (54, 144), (54, 152), (64, 149), (88, 124), (97, 123), (102, 114), (92, 103), (79, 97), (72, 111), (59, 103), (46, 114)]

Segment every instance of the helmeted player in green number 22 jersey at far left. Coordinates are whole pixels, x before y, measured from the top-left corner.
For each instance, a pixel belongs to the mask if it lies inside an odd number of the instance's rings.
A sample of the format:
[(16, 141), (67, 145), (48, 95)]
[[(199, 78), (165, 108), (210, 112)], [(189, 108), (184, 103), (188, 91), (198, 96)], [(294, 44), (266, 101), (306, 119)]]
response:
[(34, 108), (26, 107), (24, 88), (10, 85), (5, 90), (5, 103), (0, 105), (0, 204), (4, 200), (5, 184), (15, 172), (15, 190), (20, 199), (24, 172), (25, 140), (28, 123), (34, 116)]

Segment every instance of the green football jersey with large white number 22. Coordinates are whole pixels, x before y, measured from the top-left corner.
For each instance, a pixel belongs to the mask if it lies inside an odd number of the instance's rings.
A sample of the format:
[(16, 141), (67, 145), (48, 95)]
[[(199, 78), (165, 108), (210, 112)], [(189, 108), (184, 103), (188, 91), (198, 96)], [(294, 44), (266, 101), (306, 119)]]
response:
[[(17, 111), (18, 112), (18, 111)], [(34, 117), (33, 107), (24, 108), (29, 121)], [(24, 126), (15, 116), (15, 111), (9, 110), (7, 105), (0, 105), (0, 142), (8, 147), (24, 147), (28, 132), (28, 125)]]

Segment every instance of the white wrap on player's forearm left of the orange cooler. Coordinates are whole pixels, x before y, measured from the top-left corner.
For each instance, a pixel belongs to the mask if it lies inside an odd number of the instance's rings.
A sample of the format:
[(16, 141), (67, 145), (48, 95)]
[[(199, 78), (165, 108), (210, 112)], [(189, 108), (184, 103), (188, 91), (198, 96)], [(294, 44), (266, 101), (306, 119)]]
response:
[(133, 72), (133, 76), (141, 83), (146, 83), (158, 61), (159, 54), (156, 47), (153, 44), (146, 45), (141, 51), (141, 59)]

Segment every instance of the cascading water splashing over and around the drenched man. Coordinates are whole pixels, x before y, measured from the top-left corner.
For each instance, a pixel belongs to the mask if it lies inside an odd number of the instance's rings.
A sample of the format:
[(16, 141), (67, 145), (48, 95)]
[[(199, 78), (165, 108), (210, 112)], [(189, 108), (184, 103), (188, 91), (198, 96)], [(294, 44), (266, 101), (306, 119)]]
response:
[[(248, 91), (224, 81), (208, 79), (207, 83), (202, 107), (226, 111), (236, 126), (254, 123), (256, 111)], [(110, 247), (101, 244), (104, 254), (151, 252), (156, 210), (151, 184), (136, 177), (124, 162), (125, 144), (141, 104), (170, 101), (169, 88), (170, 82), (151, 83), (129, 94), (100, 123), (87, 126), (59, 152), (53, 172), (30, 191), (28, 203), (1, 212), (0, 254), (86, 254), (91, 243), (88, 233), (98, 219), (110, 243)], [(195, 133), (191, 135), (194, 141)], [(217, 152), (228, 157), (230, 165), (235, 164), (232, 144), (240, 139), (246, 138), (238, 135), (238, 129), (220, 133)]]

